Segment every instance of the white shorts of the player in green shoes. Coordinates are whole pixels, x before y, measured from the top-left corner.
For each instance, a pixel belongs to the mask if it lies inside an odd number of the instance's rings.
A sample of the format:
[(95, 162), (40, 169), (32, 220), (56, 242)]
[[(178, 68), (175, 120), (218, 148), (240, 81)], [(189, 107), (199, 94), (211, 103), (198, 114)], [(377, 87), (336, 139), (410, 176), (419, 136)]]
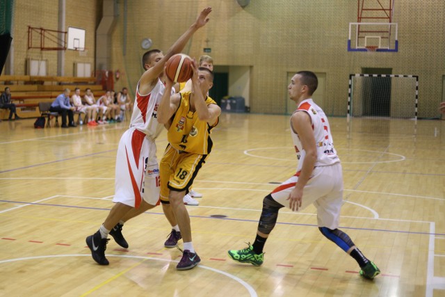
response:
[[(289, 200), (286, 199), (289, 198), (297, 182), (298, 176), (294, 175), (273, 190), (272, 198), (289, 207)], [(318, 227), (327, 227), (331, 230), (339, 227), (340, 209), (343, 204), (341, 163), (314, 168), (312, 177), (303, 190), (302, 207), (298, 211), (302, 211), (311, 203), (317, 209)]]

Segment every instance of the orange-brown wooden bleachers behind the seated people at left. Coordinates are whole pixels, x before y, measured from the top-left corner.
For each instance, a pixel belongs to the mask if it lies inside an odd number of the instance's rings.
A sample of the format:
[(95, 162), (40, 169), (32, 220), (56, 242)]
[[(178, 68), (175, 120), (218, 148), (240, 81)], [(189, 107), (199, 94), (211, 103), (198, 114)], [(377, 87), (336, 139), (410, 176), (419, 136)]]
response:
[[(96, 83), (95, 77), (35, 77), (29, 75), (1, 75), (0, 93), (4, 88), (11, 90), (11, 99), (17, 106), (21, 118), (35, 118), (40, 115), (39, 102), (53, 102), (65, 88), (81, 89), (81, 96), (90, 88), (96, 97), (102, 95), (102, 85)], [(3, 112), (4, 111), (4, 112)], [(6, 120), (9, 111), (0, 110), (0, 119)]]

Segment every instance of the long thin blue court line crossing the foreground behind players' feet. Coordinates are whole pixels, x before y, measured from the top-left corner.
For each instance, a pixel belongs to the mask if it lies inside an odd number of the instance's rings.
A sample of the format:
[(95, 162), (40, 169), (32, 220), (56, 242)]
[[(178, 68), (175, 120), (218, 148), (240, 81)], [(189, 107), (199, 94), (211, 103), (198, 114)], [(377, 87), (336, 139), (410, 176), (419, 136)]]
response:
[[(0, 200), (0, 202), (18, 203), (18, 204), (32, 204), (32, 205), (50, 206), (50, 207), (68, 207), (68, 208), (77, 208), (77, 209), (93, 209), (93, 210), (106, 210), (106, 211), (111, 210), (111, 209), (108, 209), (108, 208), (101, 208), (101, 207), (78, 207), (78, 206), (74, 206), (74, 205), (22, 202), (22, 201), (10, 201), (10, 200)], [(146, 211), (146, 212), (144, 212), (144, 214), (163, 215), (163, 212), (147, 212)], [(211, 220), (236, 220), (236, 221), (239, 221), (239, 222), (258, 223), (258, 220), (248, 220), (248, 219), (245, 219), (245, 218), (212, 218), (212, 217), (209, 217), (209, 216), (190, 216), (190, 217), (191, 218), (207, 218), (207, 219), (211, 219)], [(428, 222), (425, 222), (425, 223), (428, 223)], [(277, 222), (277, 225), (292, 225), (292, 226), (305, 226), (305, 227), (317, 227), (318, 228), (318, 225), (302, 224), (302, 223), (281, 223), (281, 222)], [(411, 231), (402, 231), (402, 230), (371, 229), (371, 228), (357, 228), (357, 227), (344, 227), (344, 226), (340, 226), (339, 229), (363, 230), (363, 231), (378, 231), (378, 232), (403, 233), (403, 234), (420, 234), (420, 235), (445, 236), (445, 233), (411, 232)]]

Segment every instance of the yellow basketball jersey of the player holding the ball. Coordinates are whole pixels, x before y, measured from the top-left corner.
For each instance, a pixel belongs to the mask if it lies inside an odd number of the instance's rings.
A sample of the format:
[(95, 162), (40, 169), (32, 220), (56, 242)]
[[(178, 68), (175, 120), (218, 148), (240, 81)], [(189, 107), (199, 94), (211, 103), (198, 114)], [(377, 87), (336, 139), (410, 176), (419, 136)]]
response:
[[(196, 111), (190, 111), (190, 95), (191, 92), (181, 94), (181, 103), (175, 113), (172, 125), (168, 129), (168, 142), (176, 150), (183, 152), (191, 152), (193, 154), (209, 154), (213, 143), (210, 138), (211, 129), (216, 127), (210, 126), (206, 121), (197, 118)], [(211, 97), (207, 96), (206, 104), (216, 104)]]

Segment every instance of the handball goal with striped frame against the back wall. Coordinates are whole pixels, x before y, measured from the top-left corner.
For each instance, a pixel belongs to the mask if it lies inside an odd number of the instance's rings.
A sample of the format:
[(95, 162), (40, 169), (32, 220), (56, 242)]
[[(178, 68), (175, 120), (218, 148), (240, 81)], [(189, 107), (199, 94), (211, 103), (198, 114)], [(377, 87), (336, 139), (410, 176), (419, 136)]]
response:
[(417, 120), (419, 77), (405, 74), (350, 74), (350, 117)]

